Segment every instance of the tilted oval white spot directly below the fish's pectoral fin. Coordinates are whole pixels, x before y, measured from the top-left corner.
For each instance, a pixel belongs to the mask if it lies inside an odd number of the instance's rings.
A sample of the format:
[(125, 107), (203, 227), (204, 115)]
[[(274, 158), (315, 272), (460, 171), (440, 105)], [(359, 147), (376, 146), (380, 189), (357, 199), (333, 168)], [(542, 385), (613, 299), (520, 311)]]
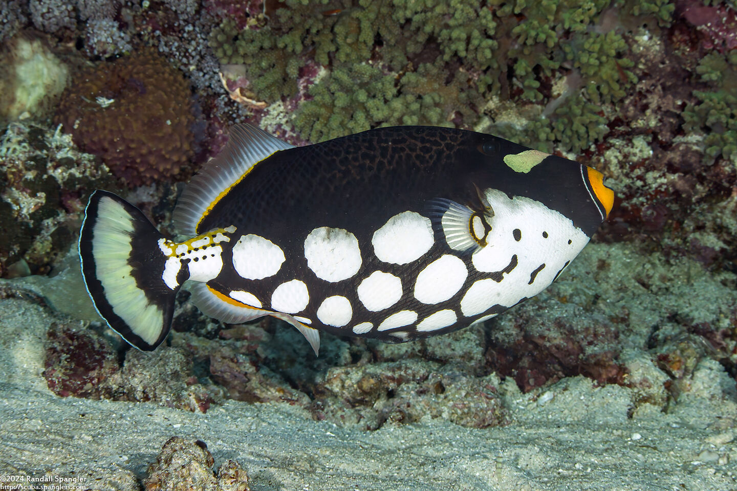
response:
[(468, 269), (460, 258), (442, 255), (417, 275), (414, 296), (422, 303), (441, 303), (458, 293), (467, 276)]

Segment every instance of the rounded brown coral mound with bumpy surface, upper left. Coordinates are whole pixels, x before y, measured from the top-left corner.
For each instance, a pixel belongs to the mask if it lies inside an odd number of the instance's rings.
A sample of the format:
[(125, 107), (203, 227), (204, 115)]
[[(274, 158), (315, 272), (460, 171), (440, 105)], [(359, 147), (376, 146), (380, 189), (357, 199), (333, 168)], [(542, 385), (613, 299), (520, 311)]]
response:
[(189, 84), (150, 50), (77, 77), (55, 121), (128, 186), (181, 179), (193, 155)]

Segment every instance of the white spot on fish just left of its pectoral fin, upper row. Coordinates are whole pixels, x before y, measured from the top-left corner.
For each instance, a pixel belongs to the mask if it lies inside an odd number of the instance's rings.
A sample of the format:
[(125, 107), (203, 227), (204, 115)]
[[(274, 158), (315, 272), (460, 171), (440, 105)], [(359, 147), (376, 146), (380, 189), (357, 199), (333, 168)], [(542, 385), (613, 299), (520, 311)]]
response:
[(374, 232), (371, 244), (380, 261), (408, 264), (433, 247), (433, 226), (429, 218), (414, 211), (403, 211)]

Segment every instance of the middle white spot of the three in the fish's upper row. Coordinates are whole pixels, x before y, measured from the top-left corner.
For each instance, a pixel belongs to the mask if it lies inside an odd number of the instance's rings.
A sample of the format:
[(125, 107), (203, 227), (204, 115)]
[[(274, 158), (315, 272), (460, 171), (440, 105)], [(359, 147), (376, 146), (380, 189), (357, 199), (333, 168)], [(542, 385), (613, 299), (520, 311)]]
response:
[(356, 237), (342, 228), (312, 230), (304, 239), (304, 257), (318, 278), (333, 283), (351, 278), (362, 262)]

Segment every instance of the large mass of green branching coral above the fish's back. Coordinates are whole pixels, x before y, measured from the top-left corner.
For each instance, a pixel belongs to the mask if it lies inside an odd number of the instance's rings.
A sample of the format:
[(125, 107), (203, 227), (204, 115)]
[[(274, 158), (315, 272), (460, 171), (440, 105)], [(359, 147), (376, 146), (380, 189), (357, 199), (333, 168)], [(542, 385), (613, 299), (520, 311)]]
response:
[[(632, 18), (656, 15), (652, 5), (657, 13), (669, 8), (662, 0), (630, 3), (621, 0), (614, 12)], [(293, 115), (310, 141), (387, 124), (474, 127), (491, 116), (493, 96), (537, 108), (528, 111), (537, 118), (525, 116), (526, 127), (525, 118), (506, 127), (508, 138), (581, 152), (607, 132), (602, 105), (621, 101), (637, 80), (624, 38), (617, 29), (599, 29), (611, 0), (277, 5), (268, 18), (259, 17), (258, 29), (223, 22), (210, 43), (221, 63), (245, 65), (248, 90), (268, 104), (297, 96), (308, 60), (326, 68)], [(553, 90), (566, 80), (572, 85)]]

